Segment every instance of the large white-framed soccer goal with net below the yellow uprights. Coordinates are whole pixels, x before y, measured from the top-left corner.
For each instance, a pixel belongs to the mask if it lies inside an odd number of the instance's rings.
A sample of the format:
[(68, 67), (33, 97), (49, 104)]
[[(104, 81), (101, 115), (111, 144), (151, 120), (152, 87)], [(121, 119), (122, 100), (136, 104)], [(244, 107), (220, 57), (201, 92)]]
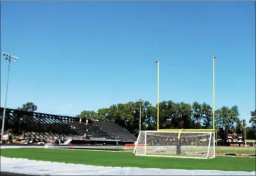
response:
[(215, 158), (215, 132), (140, 131), (133, 154), (150, 157)]

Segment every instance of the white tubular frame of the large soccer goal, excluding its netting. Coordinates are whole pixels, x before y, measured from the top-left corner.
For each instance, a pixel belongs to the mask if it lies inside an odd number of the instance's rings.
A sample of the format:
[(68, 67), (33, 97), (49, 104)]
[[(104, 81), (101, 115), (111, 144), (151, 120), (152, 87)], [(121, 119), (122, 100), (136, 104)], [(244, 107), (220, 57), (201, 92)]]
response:
[[(180, 130), (173, 130), (173, 131), (140, 131), (139, 132), (139, 135), (137, 137), (137, 140), (135, 142), (135, 147), (133, 149), (133, 154), (136, 155), (136, 156), (143, 156), (143, 157), (166, 157), (166, 158), (191, 158), (191, 159), (213, 159), (216, 157), (215, 155), (215, 131), (183, 131), (184, 129), (180, 129)], [(144, 142), (144, 154), (136, 154), (136, 148), (137, 148), (137, 145), (138, 145), (138, 142), (139, 142), (139, 136), (141, 135), (141, 132), (145, 132), (145, 142)], [(152, 133), (152, 132), (156, 132), (156, 133), (169, 133), (169, 132), (173, 132), (173, 133), (177, 133), (178, 134), (178, 138), (180, 138), (180, 135), (181, 133), (206, 133), (206, 132), (211, 132), (210, 133), (210, 140), (209, 140), (209, 144), (208, 144), (208, 148), (207, 148), (207, 155), (205, 158), (203, 157), (184, 157), (184, 156), (171, 156), (171, 155), (147, 155), (147, 144), (146, 144), (146, 136), (147, 136), (147, 133)], [(211, 144), (211, 140), (213, 140), (213, 155), (211, 157), (209, 157), (209, 153), (210, 153), (210, 144)]]

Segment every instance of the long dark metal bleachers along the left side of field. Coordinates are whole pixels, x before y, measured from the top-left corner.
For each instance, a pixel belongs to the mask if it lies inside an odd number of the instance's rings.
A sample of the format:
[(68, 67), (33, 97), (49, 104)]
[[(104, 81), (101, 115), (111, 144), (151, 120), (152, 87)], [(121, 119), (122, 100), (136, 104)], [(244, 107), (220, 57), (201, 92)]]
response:
[[(0, 125), (4, 108), (0, 109)], [(23, 139), (57, 138), (62, 141), (105, 141), (135, 142), (136, 137), (113, 122), (101, 122), (70, 116), (50, 115), (38, 112), (27, 112), (17, 109), (6, 109), (5, 131), (23, 134)], [(86, 134), (86, 137), (84, 136)]]

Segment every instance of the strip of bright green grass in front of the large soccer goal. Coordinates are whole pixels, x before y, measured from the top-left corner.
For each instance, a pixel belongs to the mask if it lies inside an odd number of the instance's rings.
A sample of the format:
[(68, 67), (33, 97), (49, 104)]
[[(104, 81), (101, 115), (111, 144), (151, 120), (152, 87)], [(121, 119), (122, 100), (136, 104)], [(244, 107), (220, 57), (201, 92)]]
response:
[(216, 157), (215, 159), (187, 159), (138, 157), (132, 153), (70, 149), (20, 148), (1, 149), (1, 155), (108, 167), (140, 167), (184, 170), (255, 171), (255, 157)]

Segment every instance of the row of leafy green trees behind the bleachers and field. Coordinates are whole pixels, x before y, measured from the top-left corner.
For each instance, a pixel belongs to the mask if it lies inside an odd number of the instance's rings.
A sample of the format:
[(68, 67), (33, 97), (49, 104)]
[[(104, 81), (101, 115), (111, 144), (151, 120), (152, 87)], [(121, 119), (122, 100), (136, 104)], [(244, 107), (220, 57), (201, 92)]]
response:
[[(83, 110), (76, 118), (96, 119), (115, 122), (127, 129), (133, 135), (139, 133), (139, 117), (141, 107), (142, 130), (156, 130), (157, 106), (150, 102), (129, 102), (100, 108), (97, 112)], [(31, 102), (18, 107), (20, 110), (35, 111), (37, 106)], [(251, 111), (251, 118), (247, 126), (247, 139), (256, 139), (256, 109)], [(228, 133), (242, 133), (244, 126), (239, 118), (238, 106), (222, 106), (215, 110), (215, 129), (217, 137), (226, 143)], [(159, 103), (159, 128), (160, 129), (210, 129), (213, 128), (213, 109), (207, 103), (194, 102), (175, 103), (171, 100)]]

